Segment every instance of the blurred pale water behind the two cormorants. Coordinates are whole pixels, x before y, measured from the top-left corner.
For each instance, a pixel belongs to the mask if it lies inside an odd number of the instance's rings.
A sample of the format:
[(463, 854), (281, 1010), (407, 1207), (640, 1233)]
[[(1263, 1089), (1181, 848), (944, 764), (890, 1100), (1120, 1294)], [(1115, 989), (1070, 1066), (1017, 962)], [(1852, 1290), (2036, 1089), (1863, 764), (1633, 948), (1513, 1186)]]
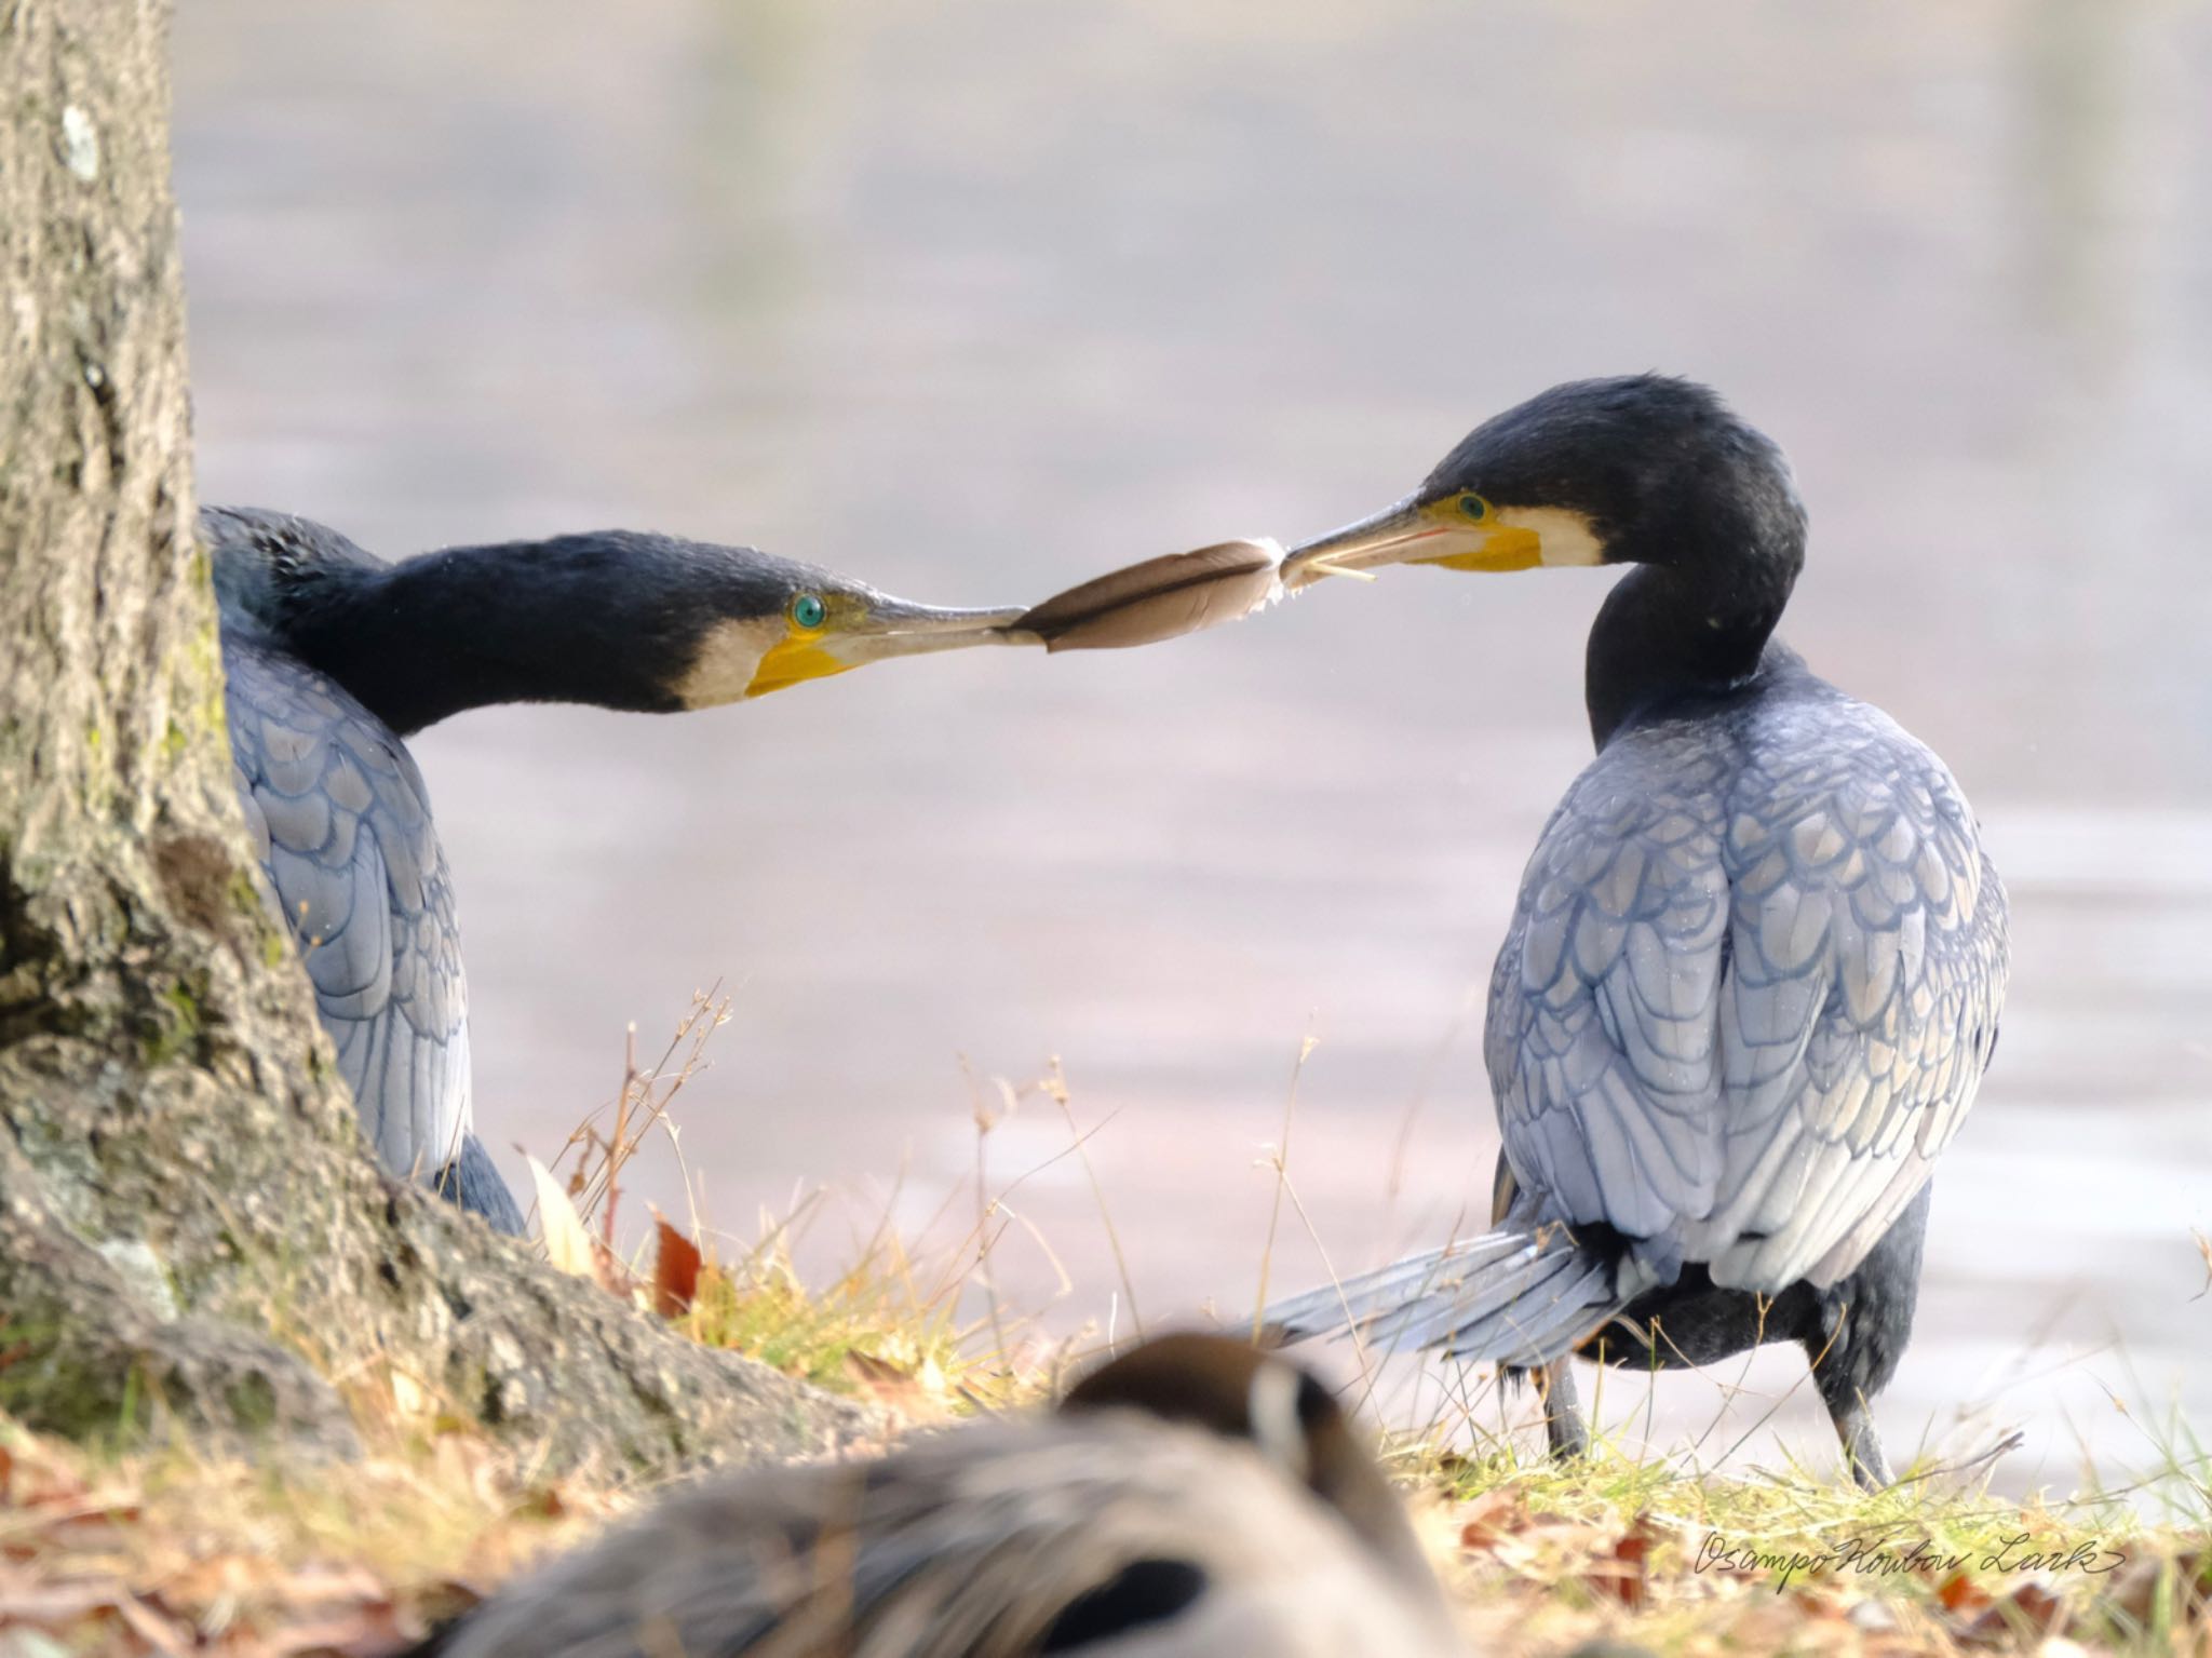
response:
[[(2066, 1486), (2150, 1455), (2108, 1391), (2212, 1421), (2208, 75), (2179, 0), (195, 0), (204, 497), (387, 555), (624, 524), (998, 604), (1354, 517), (1559, 378), (1721, 385), (1814, 508), (1790, 637), (1951, 760), (2015, 904), (1882, 1419), (1993, 1399), (2006, 1479)], [(1486, 1200), (1469, 997), (1586, 758), (1601, 586), (1405, 573), (1126, 657), (436, 730), (484, 1136), (551, 1152), (624, 1021), (650, 1050), (726, 979), (684, 1096), (710, 1214), (832, 1183), (865, 1218), (902, 1174), (914, 1220), (975, 1167), (971, 1072), (1057, 1054), (1141, 1311), (1237, 1309), (1312, 1032), (1314, 1227), (1343, 1267), (1433, 1240)], [(1064, 1143), (1031, 1099), (991, 1174)], [(1082, 1169), (1011, 1209), (1075, 1289), (1015, 1229), (1006, 1295), (1106, 1318)], [(1276, 1287), (1316, 1271), (1285, 1222)], [(1717, 1397), (1668, 1382), (1652, 1433)], [(1765, 1404), (1708, 1450), (1832, 1459)]]

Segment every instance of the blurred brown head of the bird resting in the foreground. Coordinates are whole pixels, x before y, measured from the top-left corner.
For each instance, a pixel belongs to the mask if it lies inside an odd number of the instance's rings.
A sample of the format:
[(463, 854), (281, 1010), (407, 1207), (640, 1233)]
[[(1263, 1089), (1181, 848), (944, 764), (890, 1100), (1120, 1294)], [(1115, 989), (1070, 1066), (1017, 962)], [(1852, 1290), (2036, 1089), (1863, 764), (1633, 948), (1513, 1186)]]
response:
[(1250, 1441), (1296, 1486), (1334, 1508), (1383, 1561), (1433, 1592), (1433, 1574), (1374, 1452), (1318, 1377), (1228, 1335), (1157, 1335), (1091, 1371), (1064, 1415), (1144, 1410)]

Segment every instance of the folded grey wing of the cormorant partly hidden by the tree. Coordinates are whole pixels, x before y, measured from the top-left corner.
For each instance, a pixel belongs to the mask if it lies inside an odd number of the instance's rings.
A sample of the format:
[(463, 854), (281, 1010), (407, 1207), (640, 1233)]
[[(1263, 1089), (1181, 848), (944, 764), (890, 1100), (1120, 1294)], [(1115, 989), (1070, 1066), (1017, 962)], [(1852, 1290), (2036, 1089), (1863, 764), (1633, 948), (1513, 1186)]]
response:
[(422, 774), (321, 674), (228, 632), (223, 668), (239, 800), (363, 1130), (431, 1176), (469, 1134), (469, 990)]

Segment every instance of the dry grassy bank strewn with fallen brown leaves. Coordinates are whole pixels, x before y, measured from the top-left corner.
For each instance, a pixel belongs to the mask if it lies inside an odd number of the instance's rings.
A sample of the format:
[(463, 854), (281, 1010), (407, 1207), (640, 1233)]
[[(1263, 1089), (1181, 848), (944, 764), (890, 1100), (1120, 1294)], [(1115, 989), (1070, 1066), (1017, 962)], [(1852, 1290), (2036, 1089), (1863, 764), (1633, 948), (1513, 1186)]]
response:
[[(624, 1211), (624, 1167), (717, 1019), (701, 1001), (657, 1063), (633, 1057), (622, 1101), (535, 1172), (549, 1253), (695, 1340), (869, 1397), (894, 1433), (1051, 1397), (1097, 1340), (1046, 1340), (989, 1293), (980, 1269), (1006, 1220), (980, 1192), (938, 1242), (876, 1225), (812, 1282), (792, 1265), (812, 1205), (745, 1249), (697, 1218)], [(1068, 1134), (1079, 1158), (1073, 1116)], [(588, 1470), (551, 1479), (422, 1388), (363, 1408), (365, 1461), (290, 1470), (102, 1455), (0, 1415), (0, 1658), (372, 1658), (650, 1499)], [(2197, 1444), (2168, 1452), (2154, 1490), (2066, 1503), (1997, 1499), (1986, 1463), (1869, 1497), (1606, 1444), (1557, 1468), (1531, 1446), (1469, 1435), (1464, 1417), (1387, 1446), (1478, 1651), (2212, 1658), (2212, 1459)]]

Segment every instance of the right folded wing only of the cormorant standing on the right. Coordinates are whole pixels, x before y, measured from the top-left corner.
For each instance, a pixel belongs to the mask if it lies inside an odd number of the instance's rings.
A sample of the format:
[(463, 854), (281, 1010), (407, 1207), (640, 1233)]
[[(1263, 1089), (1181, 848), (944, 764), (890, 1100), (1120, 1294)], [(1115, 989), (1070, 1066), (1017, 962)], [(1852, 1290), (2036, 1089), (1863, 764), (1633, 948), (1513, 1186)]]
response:
[(1973, 1105), (2004, 1004), (2004, 886), (1951, 772), (1838, 696), (1752, 730), (1730, 791), (1719, 1284), (1849, 1273)]

